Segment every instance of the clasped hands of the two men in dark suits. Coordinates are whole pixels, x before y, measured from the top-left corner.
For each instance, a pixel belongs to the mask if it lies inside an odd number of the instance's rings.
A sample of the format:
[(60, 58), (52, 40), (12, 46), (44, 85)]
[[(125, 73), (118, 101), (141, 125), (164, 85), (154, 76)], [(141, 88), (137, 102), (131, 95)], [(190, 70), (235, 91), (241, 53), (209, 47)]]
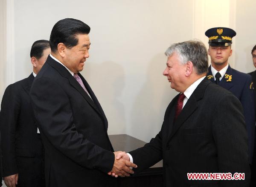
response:
[(108, 175), (113, 177), (125, 177), (130, 176), (130, 173), (133, 174), (134, 171), (131, 169), (132, 167), (137, 168), (137, 165), (130, 162), (130, 157), (124, 151), (116, 151), (115, 154), (115, 161), (113, 168)]

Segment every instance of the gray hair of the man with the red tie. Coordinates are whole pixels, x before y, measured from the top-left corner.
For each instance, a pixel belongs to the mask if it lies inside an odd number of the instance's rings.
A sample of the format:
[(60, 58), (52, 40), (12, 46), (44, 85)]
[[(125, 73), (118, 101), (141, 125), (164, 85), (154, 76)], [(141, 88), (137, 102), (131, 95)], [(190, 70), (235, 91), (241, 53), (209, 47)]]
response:
[(208, 54), (204, 43), (198, 40), (174, 43), (165, 52), (167, 57), (177, 54), (181, 64), (191, 61), (197, 74), (208, 72)]

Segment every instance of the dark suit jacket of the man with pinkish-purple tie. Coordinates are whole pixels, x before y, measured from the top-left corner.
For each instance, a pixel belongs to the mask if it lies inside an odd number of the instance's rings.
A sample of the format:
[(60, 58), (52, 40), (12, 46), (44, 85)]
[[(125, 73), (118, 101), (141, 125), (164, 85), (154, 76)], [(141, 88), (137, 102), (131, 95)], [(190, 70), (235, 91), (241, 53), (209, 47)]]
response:
[(67, 69), (50, 56), (33, 82), (30, 96), (46, 152), (47, 187), (111, 185), (114, 163), (108, 121), (92, 89), (92, 99)]

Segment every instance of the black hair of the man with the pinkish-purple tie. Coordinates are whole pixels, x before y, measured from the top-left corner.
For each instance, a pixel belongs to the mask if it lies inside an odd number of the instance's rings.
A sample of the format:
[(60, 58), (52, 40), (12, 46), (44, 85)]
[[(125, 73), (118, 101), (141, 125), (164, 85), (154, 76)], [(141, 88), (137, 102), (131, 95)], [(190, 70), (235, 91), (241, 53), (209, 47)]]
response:
[(73, 18), (59, 20), (52, 28), (50, 36), (50, 46), (52, 52), (57, 51), (59, 43), (64, 43), (67, 48), (77, 45), (77, 34), (89, 34), (90, 27), (84, 22)]

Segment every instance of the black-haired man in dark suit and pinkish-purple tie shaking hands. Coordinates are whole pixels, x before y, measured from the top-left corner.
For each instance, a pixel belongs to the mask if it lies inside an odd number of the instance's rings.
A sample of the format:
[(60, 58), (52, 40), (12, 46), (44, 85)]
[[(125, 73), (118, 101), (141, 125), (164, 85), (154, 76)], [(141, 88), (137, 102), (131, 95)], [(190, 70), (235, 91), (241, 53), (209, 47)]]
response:
[(79, 73), (89, 57), (89, 32), (80, 20), (58, 21), (50, 36), (52, 52), (30, 91), (45, 147), (47, 187), (112, 187), (116, 181), (108, 172), (129, 176), (129, 167), (136, 167), (115, 160), (106, 116)]

